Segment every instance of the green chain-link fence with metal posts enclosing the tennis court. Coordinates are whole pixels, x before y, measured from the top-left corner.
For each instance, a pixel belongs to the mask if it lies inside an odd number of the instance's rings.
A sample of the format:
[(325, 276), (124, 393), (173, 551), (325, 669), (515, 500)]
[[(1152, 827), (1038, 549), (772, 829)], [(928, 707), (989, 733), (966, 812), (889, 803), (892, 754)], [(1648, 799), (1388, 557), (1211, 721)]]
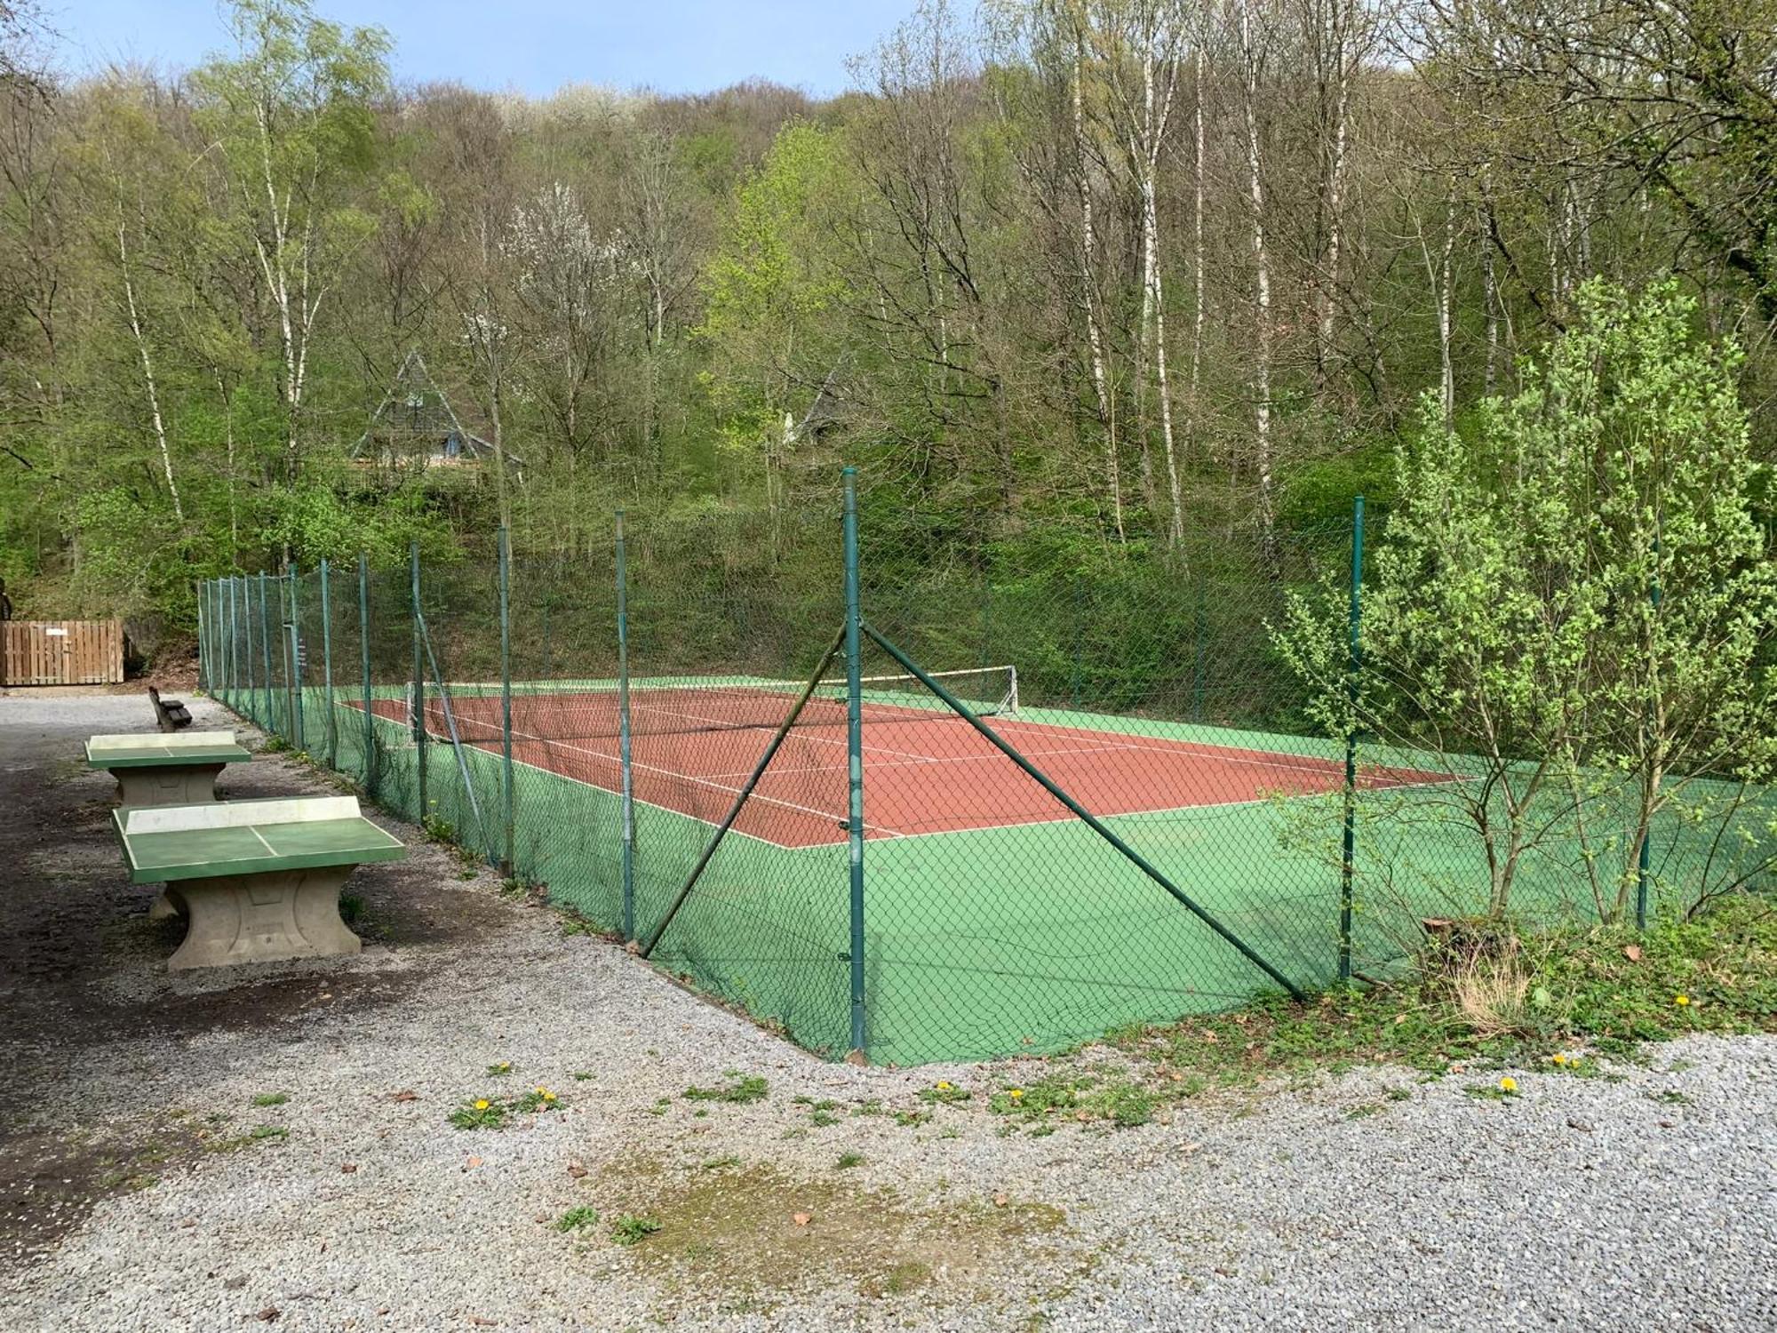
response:
[[(1605, 910), (1624, 782), (1315, 725), (1279, 633), (1349, 595), (1356, 690), (1358, 555), (1352, 526), (1045, 556), (837, 501), (618, 515), (594, 551), (213, 581), (204, 679), (810, 1050), (1041, 1052), (1381, 974), (1487, 906), (1489, 819), (1532, 832), (1516, 910)], [(1763, 789), (1724, 778), (1717, 814), (1653, 825), (1654, 906), (1763, 867)]]

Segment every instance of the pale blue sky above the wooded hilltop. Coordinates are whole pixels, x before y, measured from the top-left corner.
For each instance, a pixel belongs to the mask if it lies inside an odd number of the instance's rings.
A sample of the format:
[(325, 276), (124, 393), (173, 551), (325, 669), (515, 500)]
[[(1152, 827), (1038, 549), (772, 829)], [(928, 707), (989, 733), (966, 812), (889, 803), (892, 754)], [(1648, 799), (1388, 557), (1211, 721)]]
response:
[[(563, 84), (697, 92), (759, 76), (814, 94), (848, 85), (913, 0), (315, 0), (338, 23), (394, 37), (402, 80), (451, 78), (546, 94)], [(226, 41), (217, 0), (44, 0), (64, 66), (197, 64)]]

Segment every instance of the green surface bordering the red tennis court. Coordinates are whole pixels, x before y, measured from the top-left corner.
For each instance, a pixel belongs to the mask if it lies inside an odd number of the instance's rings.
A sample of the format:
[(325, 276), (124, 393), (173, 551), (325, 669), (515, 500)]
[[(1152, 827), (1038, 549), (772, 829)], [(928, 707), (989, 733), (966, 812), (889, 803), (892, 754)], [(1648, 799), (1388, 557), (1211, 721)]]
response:
[[(553, 682), (558, 690), (599, 682)], [(377, 690), (402, 698), (403, 690)], [(501, 761), (474, 745), (425, 745), (426, 807), (407, 725), (320, 690), (304, 691), (309, 748), (361, 780), (387, 809), (448, 826), (498, 862), (505, 819)], [(1068, 709), (1024, 709), (1027, 720), (1313, 761), (1338, 743), (1196, 723)], [(325, 736), (331, 752), (316, 746)], [(869, 727), (865, 729), (869, 739)], [(569, 745), (569, 743), (563, 743)], [(576, 745), (585, 745), (576, 743)], [(762, 745), (762, 739), (761, 739)], [(1367, 755), (1379, 764), (1381, 755)], [(1388, 755), (1395, 766), (1425, 755)], [(1009, 762), (1009, 761), (1008, 761)], [(938, 771), (936, 768), (933, 770)], [(689, 778), (688, 778), (689, 780)], [(1027, 782), (1029, 778), (1020, 778)], [(1356, 803), (1352, 956), (1386, 972), (1418, 937), (1418, 921), (1475, 901), (1487, 864), (1455, 816), (1466, 778), (1359, 791)], [(871, 782), (865, 780), (865, 818)], [(1340, 921), (1338, 793), (1263, 796), (1105, 819), (1205, 912), (1301, 988), (1335, 981)], [(604, 786), (542, 762), (514, 764), (517, 876), (547, 885), (601, 930), (618, 931), (622, 803)], [(1592, 848), (1622, 812), (1590, 809)], [(714, 816), (636, 803), (634, 933), (647, 938), (709, 841)], [(1745, 828), (1768, 826), (1772, 802), (1747, 803)], [(1544, 919), (1590, 919), (1594, 905), (1576, 830), (1544, 830), (1519, 867), (1514, 905)], [(1715, 846), (1677, 819), (1654, 830), (1656, 892), (1720, 873), (1743, 850)], [(1711, 862), (1720, 862), (1713, 866)], [(1050, 1052), (1134, 1022), (1226, 1010), (1274, 988), (1208, 926), (1077, 819), (871, 839), (865, 864), (865, 1036), (873, 1063), (915, 1065)], [(709, 864), (654, 962), (745, 1008), (828, 1058), (849, 1045), (848, 848), (780, 846), (732, 834)]]

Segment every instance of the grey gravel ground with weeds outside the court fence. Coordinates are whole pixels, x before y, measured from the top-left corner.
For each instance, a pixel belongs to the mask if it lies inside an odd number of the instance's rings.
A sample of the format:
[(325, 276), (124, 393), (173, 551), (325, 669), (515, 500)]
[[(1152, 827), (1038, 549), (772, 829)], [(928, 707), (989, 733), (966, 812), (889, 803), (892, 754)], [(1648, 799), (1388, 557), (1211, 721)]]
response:
[[(979, 1093), (1029, 1063), (817, 1063), (393, 821), (416, 851), (354, 878), (359, 958), (169, 978), (178, 926), (73, 762), (146, 714), (0, 698), (7, 1331), (1777, 1328), (1777, 1040), (1509, 1102), (1377, 1066), (1004, 1134)], [(769, 1095), (682, 1097), (729, 1072)], [(977, 1097), (897, 1123), (940, 1077)], [(446, 1123), (538, 1084), (565, 1106)], [(620, 1246), (624, 1214), (661, 1230)]]

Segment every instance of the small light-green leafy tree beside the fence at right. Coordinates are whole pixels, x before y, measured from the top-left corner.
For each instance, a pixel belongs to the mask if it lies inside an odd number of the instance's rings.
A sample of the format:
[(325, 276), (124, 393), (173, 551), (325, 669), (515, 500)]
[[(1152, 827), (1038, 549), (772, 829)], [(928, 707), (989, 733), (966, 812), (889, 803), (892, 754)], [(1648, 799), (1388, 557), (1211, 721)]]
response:
[(1656, 819), (1702, 848), (1665, 862), (1690, 905), (1770, 862), (1752, 784), (1777, 732), (1777, 567), (1740, 354), (1693, 336), (1674, 284), (1594, 281), (1576, 309), (1471, 437), (1427, 400), (1356, 679), (1340, 597), (1294, 599), (1276, 635), (1320, 725), (1441, 770), (1430, 800), (1480, 841), (1491, 915), (1539, 850), (1574, 841), (1592, 910), (1621, 915)]

